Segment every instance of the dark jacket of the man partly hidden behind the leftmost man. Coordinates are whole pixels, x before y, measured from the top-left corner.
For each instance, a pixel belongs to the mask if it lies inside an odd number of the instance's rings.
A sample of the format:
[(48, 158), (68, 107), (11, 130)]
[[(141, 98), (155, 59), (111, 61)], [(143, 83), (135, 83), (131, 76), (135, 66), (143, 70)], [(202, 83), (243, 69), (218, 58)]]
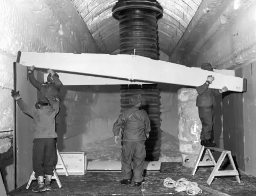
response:
[(47, 99), (55, 99), (59, 98), (59, 93), (60, 89), (63, 86), (61, 83), (59, 77), (57, 77), (55, 74), (52, 76), (53, 78), (53, 83), (40, 83), (39, 81), (36, 80), (34, 76), (34, 72), (30, 72), (28, 74), (28, 78), (30, 83), (38, 90), (41, 92), (41, 97), (47, 97)]

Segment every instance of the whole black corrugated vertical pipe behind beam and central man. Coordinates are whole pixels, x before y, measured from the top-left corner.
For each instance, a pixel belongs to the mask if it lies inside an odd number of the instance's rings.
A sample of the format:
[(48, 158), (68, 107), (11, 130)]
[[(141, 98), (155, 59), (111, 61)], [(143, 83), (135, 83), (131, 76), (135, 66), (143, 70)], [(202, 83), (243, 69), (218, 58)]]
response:
[[(120, 54), (135, 53), (158, 60), (157, 20), (163, 17), (162, 6), (154, 0), (119, 0), (112, 11), (119, 21)], [(146, 160), (155, 161), (161, 155), (159, 89), (157, 84), (121, 85), (121, 110), (129, 107), (129, 98), (138, 93), (142, 95), (142, 109), (151, 121)]]

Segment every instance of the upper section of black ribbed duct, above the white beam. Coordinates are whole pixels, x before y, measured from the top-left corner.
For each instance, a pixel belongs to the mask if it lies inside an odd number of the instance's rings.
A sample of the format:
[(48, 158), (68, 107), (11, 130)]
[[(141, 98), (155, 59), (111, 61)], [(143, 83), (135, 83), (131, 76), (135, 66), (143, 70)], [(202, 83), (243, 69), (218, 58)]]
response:
[(119, 21), (120, 54), (137, 54), (158, 60), (157, 20), (163, 8), (154, 0), (119, 1), (113, 7)]

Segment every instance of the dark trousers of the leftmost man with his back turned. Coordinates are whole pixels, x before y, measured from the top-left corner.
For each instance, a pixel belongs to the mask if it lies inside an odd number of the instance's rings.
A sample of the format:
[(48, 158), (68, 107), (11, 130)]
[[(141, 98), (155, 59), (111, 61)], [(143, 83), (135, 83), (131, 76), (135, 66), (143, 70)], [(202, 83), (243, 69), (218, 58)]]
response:
[(55, 168), (58, 161), (55, 138), (35, 138), (33, 143), (35, 178), (53, 175), (53, 168)]

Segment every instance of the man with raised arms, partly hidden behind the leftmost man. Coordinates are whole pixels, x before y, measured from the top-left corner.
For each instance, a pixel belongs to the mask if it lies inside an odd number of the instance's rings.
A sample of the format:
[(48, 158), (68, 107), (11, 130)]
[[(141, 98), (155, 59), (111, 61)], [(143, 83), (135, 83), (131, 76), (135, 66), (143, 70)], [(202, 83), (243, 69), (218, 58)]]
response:
[(47, 99), (50, 100), (50, 102), (55, 101), (56, 98), (59, 99), (59, 93), (60, 89), (63, 86), (61, 83), (59, 76), (57, 73), (55, 73), (52, 69), (47, 70), (49, 75), (47, 76), (47, 82), (46, 83), (40, 83), (36, 80), (34, 76), (34, 69), (35, 66), (29, 67), (29, 74), (28, 78), (30, 83), (41, 92), (41, 97), (47, 97)]

